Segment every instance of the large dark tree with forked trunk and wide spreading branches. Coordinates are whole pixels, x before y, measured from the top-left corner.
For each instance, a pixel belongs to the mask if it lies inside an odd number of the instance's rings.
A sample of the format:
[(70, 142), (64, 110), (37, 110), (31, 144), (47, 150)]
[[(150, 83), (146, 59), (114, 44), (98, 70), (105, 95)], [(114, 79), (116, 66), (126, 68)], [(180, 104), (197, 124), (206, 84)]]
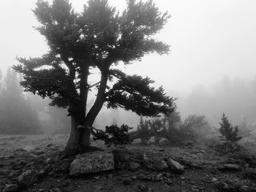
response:
[[(153, 36), (170, 16), (152, 1), (129, 0), (119, 14), (107, 0), (89, 0), (81, 13), (68, 0), (39, 0), (34, 14), (50, 51), (41, 58), (18, 58), (14, 69), (23, 74), (25, 91), (50, 97), (53, 106), (67, 107), (72, 126), (66, 153), (89, 147), (90, 129), (103, 104), (148, 117), (173, 111), (174, 99), (162, 87), (152, 88), (149, 77), (116, 69), (120, 61), (131, 64), (148, 53), (168, 53), (169, 45)], [(93, 69), (100, 73), (94, 84), (89, 82)], [(96, 99), (87, 110), (88, 93), (95, 87)]]

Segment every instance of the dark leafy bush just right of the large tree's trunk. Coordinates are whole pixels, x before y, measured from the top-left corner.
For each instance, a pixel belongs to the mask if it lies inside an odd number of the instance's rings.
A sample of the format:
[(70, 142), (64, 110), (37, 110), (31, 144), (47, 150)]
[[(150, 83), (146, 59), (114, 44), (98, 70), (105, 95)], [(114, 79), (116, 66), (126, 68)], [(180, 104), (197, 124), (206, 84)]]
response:
[(127, 125), (122, 125), (118, 127), (117, 125), (106, 126), (105, 131), (97, 130), (94, 134), (95, 140), (102, 140), (105, 145), (110, 147), (111, 145), (127, 145), (130, 144), (128, 131), (132, 129)]

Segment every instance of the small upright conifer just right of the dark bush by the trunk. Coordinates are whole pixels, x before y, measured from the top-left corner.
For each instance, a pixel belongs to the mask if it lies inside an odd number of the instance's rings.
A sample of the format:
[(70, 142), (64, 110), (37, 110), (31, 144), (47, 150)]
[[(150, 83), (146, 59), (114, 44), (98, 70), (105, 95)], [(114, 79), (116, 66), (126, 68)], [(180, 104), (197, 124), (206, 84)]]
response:
[(143, 120), (143, 118), (140, 117), (140, 124), (138, 125), (137, 134), (142, 144), (146, 145), (151, 137), (150, 120)]

